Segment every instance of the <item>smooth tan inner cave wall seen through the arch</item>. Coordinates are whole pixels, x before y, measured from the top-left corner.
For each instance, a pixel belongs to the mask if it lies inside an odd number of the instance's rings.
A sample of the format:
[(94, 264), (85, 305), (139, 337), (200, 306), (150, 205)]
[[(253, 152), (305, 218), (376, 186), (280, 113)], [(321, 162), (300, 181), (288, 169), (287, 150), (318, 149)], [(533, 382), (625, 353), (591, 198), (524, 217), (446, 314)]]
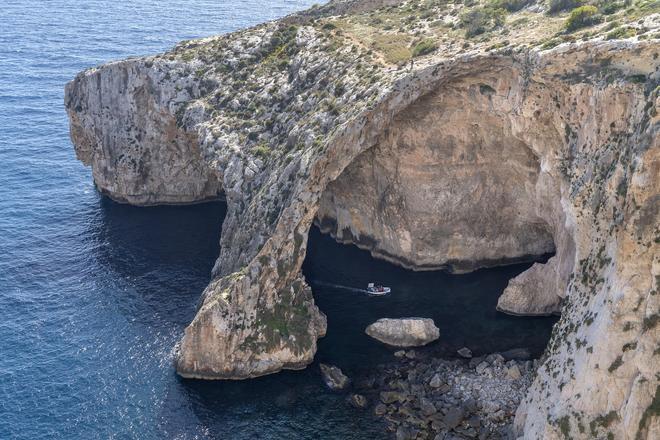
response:
[[(480, 81), (459, 79), (399, 113), (328, 185), (322, 230), (415, 270), (468, 272), (554, 252), (539, 159)], [(502, 89), (517, 87), (506, 81)]]

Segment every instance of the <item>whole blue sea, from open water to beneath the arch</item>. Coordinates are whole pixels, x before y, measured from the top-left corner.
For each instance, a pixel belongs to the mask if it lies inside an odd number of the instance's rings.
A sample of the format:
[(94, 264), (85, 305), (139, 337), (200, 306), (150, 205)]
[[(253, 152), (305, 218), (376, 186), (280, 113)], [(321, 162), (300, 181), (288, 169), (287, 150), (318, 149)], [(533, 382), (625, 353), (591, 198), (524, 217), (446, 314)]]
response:
[[(172, 348), (218, 254), (224, 206), (135, 208), (76, 161), (64, 84), (90, 66), (286, 15), (311, 0), (4, 0), (0, 5), (0, 439), (383, 438), (316, 364), (247, 382), (182, 380)], [(304, 273), (327, 313), (318, 359), (350, 374), (392, 358), (363, 335), (428, 316), (430, 349), (543, 350), (553, 319), (494, 311), (527, 265), (413, 273), (311, 234)], [(352, 290), (376, 279), (387, 298)]]

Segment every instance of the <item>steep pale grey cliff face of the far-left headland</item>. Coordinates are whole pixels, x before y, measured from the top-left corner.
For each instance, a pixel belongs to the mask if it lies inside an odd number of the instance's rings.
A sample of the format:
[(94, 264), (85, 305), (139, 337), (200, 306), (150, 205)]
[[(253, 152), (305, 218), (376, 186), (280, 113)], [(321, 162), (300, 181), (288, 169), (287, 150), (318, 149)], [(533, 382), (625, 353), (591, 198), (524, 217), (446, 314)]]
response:
[(198, 81), (171, 81), (149, 60), (90, 69), (66, 86), (76, 156), (114, 200), (134, 205), (217, 199), (222, 183), (202, 161), (195, 131), (174, 109), (199, 94)]

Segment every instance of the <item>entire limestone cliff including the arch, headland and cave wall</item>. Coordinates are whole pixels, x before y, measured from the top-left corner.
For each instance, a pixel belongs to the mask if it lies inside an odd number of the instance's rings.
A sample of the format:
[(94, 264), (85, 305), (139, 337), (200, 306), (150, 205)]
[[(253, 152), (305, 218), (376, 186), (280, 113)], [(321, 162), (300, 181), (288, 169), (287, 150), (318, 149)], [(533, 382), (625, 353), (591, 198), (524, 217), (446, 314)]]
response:
[[(72, 139), (101, 191), (134, 204), (226, 197), (214, 279), (177, 371), (242, 379), (311, 362), (326, 330), (300, 274), (315, 219), (416, 269), (554, 249), (499, 304), (562, 312), (517, 431), (652, 438), (658, 15), (619, 17), (647, 41), (604, 41), (603, 24), (545, 50), (563, 18), (539, 26), (529, 12), (516, 22), (524, 32), (457, 43), (442, 32), (468, 6), (404, 2), (382, 16), (377, 6), (185, 42), (67, 86)], [(418, 32), (436, 47), (419, 49)], [(410, 65), (401, 55), (429, 47)]]

